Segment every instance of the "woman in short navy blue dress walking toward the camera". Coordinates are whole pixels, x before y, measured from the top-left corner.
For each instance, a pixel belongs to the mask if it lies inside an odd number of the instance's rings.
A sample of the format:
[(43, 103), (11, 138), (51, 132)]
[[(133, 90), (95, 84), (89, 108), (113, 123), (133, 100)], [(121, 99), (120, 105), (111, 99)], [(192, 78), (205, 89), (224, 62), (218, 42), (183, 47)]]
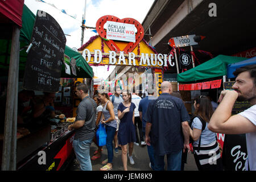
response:
[(123, 169), (127, 171), (127, 146), (129, 144), (129, 160), (130, 164), (134, 164), (133, 160), (133, 143), (136, 141), (134, 126), (134, 109), (135, 104), (131, 102), (131, 93), (123, 91), (123, 102), (118, 106), (118, 118), (120, 125), (118, 130), (118, 143), (122, 147)]

